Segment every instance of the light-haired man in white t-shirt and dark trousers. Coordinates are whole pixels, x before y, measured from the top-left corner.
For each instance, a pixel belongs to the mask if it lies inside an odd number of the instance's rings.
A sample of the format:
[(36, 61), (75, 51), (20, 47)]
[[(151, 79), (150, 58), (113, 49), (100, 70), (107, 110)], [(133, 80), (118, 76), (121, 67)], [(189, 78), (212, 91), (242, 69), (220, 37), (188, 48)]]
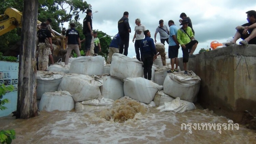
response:
[(134, 36), (133, 36), (133, 39), (132, 39), (132, 42), (134, 42), (134, 39), (136, 38), (135, 40), (135, 43), (134, 43), (134, 47), (135, 47), (135, 52), (136, 52), (136, 58), (141, 61), (142, 60), (142, 52), (141, 52), (141, 41), (144, 39), (144, 31), (146, 30), (145, 29), (145, 26), (142, 25), (140, 23), (140, 19), (137, 18), (135, 20), (135, 28), (134, 28)]

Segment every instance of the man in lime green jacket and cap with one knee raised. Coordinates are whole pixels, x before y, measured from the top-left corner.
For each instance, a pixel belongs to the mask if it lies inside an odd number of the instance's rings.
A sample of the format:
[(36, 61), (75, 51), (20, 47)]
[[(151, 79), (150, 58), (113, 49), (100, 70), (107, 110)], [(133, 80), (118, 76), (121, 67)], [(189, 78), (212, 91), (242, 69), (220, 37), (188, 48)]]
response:
[(182, 27), (177, 31), (177, 41), (180, 43), (182, 47), (183, 66), (185, 71), (184, 74), (187, 74), (188, 57), (196, 57), (195, 55), (193, 55), (193, 53), (195, 52), (198, 41), (195, 40), (192, 29), (188, 27), (187, 19), (182, 20), (182, 23), (180, 25), (182, 25)]

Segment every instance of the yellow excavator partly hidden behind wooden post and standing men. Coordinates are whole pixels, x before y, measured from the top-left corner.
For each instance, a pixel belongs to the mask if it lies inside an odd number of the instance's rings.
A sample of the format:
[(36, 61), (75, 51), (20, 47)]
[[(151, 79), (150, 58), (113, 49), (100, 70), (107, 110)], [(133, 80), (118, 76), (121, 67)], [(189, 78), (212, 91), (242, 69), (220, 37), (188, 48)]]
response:
[[(41, 24), (41, 21), (37, 21), (37, 24)], [(14, 8), (7, 8), (3, 15), (0, 15), (0, 36), (15, 29), (16, 27), (22, 28), (22, 12)], [(54, 62), (57, 62), (59, 58), (65, 59), (64, 55), (67, 53), (65, 37), (60, 33), (53, 30), (56, 37), (52, 34), (53, 42), (53, 57)]]

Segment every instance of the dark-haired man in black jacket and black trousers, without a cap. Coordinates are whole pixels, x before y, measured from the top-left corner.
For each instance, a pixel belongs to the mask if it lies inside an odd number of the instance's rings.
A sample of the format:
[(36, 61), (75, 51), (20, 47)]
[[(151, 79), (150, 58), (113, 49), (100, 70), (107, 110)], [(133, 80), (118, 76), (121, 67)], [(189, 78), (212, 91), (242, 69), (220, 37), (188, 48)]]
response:
[(129, 33), (131, 28), (128, 21), (128, 12), (124, 12), (123, 17), (118, 21), (118, 33), (120, 35), (119, 53), (127, 56), (129, 47)]

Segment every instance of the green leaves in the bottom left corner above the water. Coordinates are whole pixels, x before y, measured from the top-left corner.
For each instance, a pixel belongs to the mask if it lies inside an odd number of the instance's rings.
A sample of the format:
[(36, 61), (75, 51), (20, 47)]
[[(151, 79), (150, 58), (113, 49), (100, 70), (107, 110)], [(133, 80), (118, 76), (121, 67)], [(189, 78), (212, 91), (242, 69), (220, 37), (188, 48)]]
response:
[(16, 139), (15, 136), (16, 132), (12, 130), (1, 130), (0, 131), (0, 142), (2, 144), (7, 143), (10, 144), (12, 143), (12, 140)]

